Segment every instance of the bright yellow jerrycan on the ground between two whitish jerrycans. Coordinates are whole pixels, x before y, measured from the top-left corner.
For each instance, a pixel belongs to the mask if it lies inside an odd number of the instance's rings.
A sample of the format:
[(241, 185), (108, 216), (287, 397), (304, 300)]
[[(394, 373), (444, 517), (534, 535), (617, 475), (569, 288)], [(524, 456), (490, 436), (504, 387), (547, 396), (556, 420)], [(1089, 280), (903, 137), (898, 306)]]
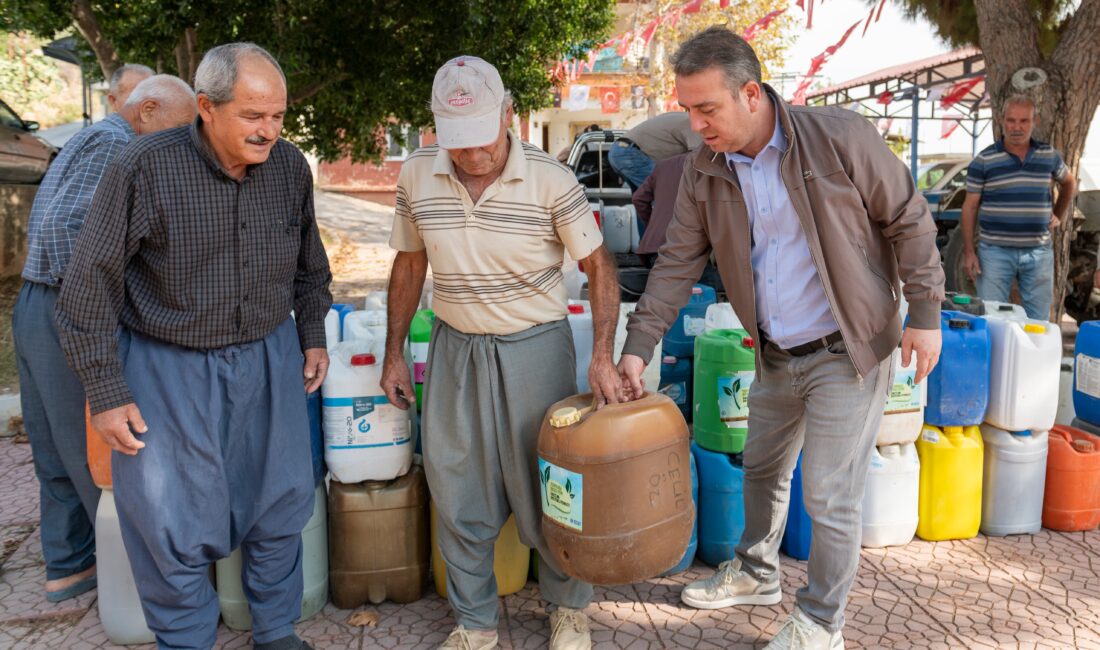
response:
[(921, 459), (917, 537), (943, 541), (977, 536), (981, 526), (981, 430), (925, 425), (916, 440), (916, 453)]

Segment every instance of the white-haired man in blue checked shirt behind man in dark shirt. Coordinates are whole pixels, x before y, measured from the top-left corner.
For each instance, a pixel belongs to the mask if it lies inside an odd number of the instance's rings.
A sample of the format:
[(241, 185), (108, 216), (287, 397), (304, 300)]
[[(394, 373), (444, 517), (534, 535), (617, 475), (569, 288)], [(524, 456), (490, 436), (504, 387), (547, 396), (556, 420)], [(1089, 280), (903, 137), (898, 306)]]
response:
[(195, 93), (178, 77), (139, 84), (119, 112), (69, 140), (31, 207), (23, 288), (12, 312), (23, 426), (38, 477), (46, 599), (96, 586), (92, 522), (99, 489), (88, 471), (84, 388), (62, 352), (54, 307), (62, 278), (108, 165), (135, 135), (188, 124)]

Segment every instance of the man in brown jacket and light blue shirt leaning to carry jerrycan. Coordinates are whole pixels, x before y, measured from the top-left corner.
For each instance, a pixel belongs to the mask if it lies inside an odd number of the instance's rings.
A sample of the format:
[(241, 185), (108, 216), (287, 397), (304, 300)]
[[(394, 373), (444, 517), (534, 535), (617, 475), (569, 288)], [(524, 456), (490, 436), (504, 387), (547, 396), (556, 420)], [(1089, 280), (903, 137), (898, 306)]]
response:
[[(745, 533), (736, 557), (684, 587), (700, 608), (781, 599), (779, 542), (802, 452), (813, 520), (809, 585), (768, 649), (844, 647), (859, 565), (861, 500), (892, 381), (891, 354), (922, 381), (939, 357), (944, 274), (927, 203), (860, 115), (790, 107), (760, 80), (752, 48), (724, 27), (672, 58), (701, 147), (619, 361), (634, 397), (653, 346), (688, 302), (712, 250), (757, 345), (745, 443)], [(899, 276), (909, 324), (898, 316)]]

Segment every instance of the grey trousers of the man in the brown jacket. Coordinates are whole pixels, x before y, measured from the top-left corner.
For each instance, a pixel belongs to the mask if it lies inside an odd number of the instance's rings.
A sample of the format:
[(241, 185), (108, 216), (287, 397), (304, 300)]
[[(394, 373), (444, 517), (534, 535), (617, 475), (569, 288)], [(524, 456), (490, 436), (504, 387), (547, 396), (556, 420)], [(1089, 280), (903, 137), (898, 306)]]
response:
[(859, 569), (864, 482), (893, 364), (887, 359), (860, 379), (844, 342), (806, 356), (768, 343), (761, 359), (763, 372), (749, 389), (745, 532), (737, 557), (758, 580), (779, 577), (779, 543), (801, 451), (813, 538), (809, 584), (795, 603), (818, 624), (838, 630)]

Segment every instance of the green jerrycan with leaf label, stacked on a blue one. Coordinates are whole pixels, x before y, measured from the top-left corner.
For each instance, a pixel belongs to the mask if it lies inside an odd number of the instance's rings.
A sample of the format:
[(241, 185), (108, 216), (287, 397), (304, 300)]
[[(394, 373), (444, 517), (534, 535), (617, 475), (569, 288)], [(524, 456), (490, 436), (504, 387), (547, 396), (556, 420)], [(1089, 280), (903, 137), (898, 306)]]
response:
[(756, 343), (745, 330), (695, 337), (695, 442), (705, 450), (739, 453), (748, 436), (748, 396), (756, 378)]

